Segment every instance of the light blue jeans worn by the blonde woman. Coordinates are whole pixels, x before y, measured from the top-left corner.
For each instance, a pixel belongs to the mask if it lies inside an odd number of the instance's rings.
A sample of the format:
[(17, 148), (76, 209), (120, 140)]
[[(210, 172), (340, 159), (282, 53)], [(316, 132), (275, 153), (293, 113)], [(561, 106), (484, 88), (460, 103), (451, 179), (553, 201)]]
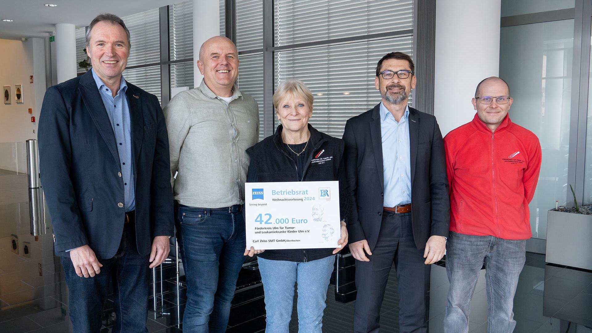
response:
[(335, 256), (308, 262), (257, 258), (265, 292), (266, 333), (288, 333), (298, 283), (298, 332), (321, 333)]

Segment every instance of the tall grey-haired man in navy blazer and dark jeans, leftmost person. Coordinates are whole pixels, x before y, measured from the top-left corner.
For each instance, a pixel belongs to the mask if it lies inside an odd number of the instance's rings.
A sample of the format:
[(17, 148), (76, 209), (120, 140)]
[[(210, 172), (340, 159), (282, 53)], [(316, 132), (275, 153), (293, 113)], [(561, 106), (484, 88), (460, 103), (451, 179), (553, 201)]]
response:
[(92, 70), (47, 89), (41, 107), (54, 248), (74, 332), (99, 332), (111, 279), (113, 332), (147, 332), (149, 268), (168, 257), (174, 228), (165, 119), (156, 96), (121, 75), (130, 52), (121, 18), (96, 17), (86, 50)]

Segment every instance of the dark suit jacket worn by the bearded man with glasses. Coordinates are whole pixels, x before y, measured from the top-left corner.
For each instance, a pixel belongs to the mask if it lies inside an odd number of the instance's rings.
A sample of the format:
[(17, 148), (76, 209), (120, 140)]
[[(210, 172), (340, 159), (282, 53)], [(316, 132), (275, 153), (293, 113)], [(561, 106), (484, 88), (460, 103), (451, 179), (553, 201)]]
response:
[[(436, 117), (410, 107), (408, 124), (411, 219), (415, 245), (422, 249), (430, 236), (448, 237), (446, 157)], [(384, 205), (380, 104), (349, 119), (343, 140), (350, 194), (349, 242), (366, 239), (372, 250), (379, 236)]]

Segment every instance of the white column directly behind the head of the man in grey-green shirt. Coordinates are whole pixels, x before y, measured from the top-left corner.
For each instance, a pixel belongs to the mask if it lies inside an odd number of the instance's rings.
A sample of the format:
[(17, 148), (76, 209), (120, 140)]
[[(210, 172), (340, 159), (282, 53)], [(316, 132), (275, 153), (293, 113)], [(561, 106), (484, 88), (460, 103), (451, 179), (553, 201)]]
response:
[(193, 82), (195, 87), (200, 87), (201, 79), (204, 78), (197, 68), (201, 44), (214, 36), (220, 36), (220, 2), (193, 0)]

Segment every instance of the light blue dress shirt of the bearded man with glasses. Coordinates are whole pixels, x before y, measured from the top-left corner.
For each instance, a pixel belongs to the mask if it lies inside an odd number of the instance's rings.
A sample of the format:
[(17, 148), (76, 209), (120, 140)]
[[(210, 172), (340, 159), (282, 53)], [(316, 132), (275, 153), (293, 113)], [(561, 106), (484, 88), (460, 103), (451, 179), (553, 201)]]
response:
[(411, 203), (411, 158), (409, 143), (409, 107), (399, 122), (380, 104), (384, 206)]

